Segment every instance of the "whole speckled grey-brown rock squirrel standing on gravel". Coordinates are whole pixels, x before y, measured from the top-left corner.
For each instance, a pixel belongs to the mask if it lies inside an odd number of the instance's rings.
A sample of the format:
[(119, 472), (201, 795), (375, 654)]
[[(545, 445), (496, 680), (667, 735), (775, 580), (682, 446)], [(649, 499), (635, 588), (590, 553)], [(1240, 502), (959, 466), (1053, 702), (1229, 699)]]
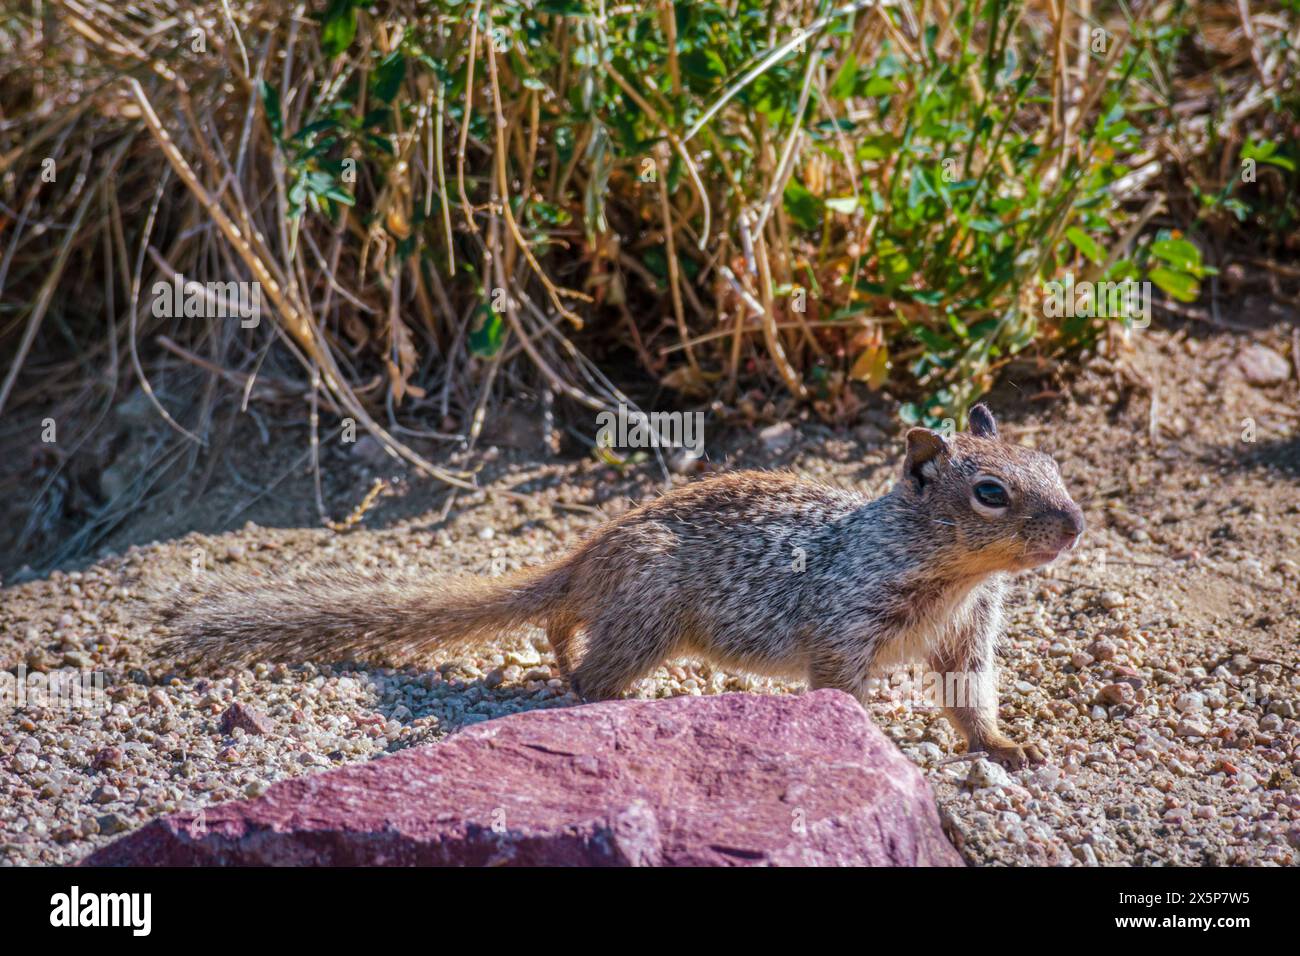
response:
[(942, 701), (949, 719), (968, 750), (1022, 766), (1043, 754), (997, 726), (1005, 579), (1082, 533), (1056, 462), (1002, 441), (976, 405), (967, 433), (910, 429), (902, 475), (875, 499), (748, 471), (673, 489), (568, 555), (503, 578), (222, 578), (166, 611), (162, 653), (403, 663), (533, 623), (585, 700), (614, 697), (668, 658), (702, 657), (864, 701), (870, 676), (914, 661), (966, 675), (970, 700)]

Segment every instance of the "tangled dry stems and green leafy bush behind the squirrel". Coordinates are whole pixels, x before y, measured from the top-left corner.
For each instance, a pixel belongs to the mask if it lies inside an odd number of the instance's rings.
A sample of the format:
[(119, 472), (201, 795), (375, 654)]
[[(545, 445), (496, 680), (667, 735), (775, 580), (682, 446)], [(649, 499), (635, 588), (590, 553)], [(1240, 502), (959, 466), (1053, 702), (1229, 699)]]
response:
[[(66, 310), (26, 268), (64, 241), (99, 276), (139, 259), (138, 284), (103, 284), (120, 315), (162, 261), (269, 277), (329, 395), (393, 427), (434, 411), (458, 441), (519, 385), (607, 407), (629, 359), (679, 402), (848, 418), (888, 389), (914, 420), (961, 418), (1017, 354), (1127, 321), (1052, 316), (1045, 282), (1190, 303), (1234, 229), (1294, 233), (1290, 0), (1256, 9), (1248, 56), (1239, 10), (1186, 3), (325, 0), (300, 20), (213, 0), (170, 33), (151, 1), (83, 9), (56, 5), (66, 42), (22, 64), (4, 199), (23, 206), (46, 143), (75, 161), (129, 142), (96, 189), (133, 202), (118, 229), (107, 199), (73, 224), (68, 179), (32, 200), (65, 226), (22, 235), (3, 334)], [(122, 107), (127, 77), (157, 129)], [(1209, 176), (1223, 155), (1258, 186)], [(235, 373), (272, 334), (133, 329), (211, 341)]]

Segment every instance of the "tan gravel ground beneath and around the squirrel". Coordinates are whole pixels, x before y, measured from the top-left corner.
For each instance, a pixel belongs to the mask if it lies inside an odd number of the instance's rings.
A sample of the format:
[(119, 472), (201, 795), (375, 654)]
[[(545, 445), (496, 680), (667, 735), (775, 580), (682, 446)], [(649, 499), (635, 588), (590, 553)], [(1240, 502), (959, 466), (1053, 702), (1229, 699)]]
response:
[[(1280, 329), (1257, 339), (1286, 355)], [(1088, 519), (1080, 550), (1018, 579), (1009, 605), (1002, 722), (1045, 743), (1049, 760), (1006, 773), (961, 754), (930, 711), (885, 698), (871, 706), (924, 769), (971, 862), (1300, 861), (1296, 380), (1251, 384), (1248, 345), (1148, 332), (1131, 355), (1092, 356), (1060, 388), (992, 397), (1008, 434), (1060, 458)], [(1242, 440), (1247, 420), (1254, 441)], [(790, 467), (881, 492), (897, 432), (883, 410), (842, 432), (810, 421), (731, 429), (710, 436), (706, 467)], [(105, 687), (98, 708), (0, 709), (0, 861), (73, 862), (160, 813), (573, 704), (540, 633), (402, 671), (317, 662), (174, 676), (150, 658), (147, 607), (178, 576), (203, 574), (196, 567), (499, 572), (554, 557), (598, 523), (593, 511), (620, 511), (660, 480), (650, 467), (619, 473), (504, 446), (480, 458), (485, 475), (533, 501), (465, 497), (442, 520), (429, 485), (399, 481), (348, 533), (250, 523), (178, 536), (172, 519), (153, 516), (160, 542), (127, 546), (147, 540), (150, 525), (136, 524), (118, 554), (4, 588), (0, 667), (99, 671)], [(376, 470), (364, 447), (333, 470), (342, 511)], [(274, 497), (309, 501), (308, 489), (295, 473)], [(248, 514), (309, 524), (300, 511), (276, 516), (269, 501)], [(640, 693), (800, 689), (676, 662)]]

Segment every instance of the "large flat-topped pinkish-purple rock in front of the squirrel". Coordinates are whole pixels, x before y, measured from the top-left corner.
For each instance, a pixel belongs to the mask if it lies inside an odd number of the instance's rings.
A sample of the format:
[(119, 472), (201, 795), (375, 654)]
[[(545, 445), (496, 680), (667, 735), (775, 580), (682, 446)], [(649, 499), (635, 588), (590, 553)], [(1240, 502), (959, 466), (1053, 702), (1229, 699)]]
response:
[(838, 691), (610, 701), (152, 821), (90, 865), (954, 865), (924, 778)]

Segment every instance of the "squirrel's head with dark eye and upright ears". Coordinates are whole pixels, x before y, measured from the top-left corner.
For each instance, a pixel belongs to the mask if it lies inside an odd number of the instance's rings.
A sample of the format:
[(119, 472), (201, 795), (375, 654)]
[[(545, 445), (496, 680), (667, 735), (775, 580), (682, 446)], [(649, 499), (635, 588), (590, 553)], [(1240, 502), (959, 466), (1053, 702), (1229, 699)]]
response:
[(1083, 535), (1083, 511), (1061, 483), (1050, 455), (1011, 445), (983, 405), (970, 431), (950, 437), (907, 432), (901, 492), (931, 520), (950, 528), (958, 551), (987, 571), (1046, 564)]

